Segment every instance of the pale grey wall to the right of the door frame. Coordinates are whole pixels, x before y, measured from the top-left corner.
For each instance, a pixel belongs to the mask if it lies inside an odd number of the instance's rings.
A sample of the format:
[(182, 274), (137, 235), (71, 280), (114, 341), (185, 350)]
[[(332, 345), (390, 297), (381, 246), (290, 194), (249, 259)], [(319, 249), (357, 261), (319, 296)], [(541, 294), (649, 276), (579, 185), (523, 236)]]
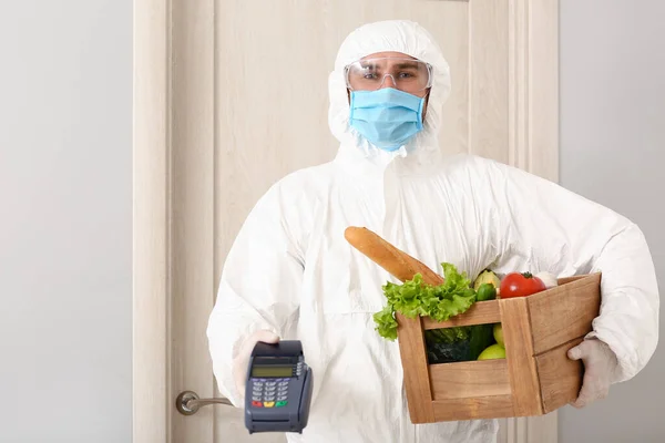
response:
[[(665, 292), (665, 2), (561, 1), (562, 184), (636, 222)], [(663, 312), (663, 309), (661, 310)], [(661, 334), (665, 327), (661, 327)], [(561, 443), (665, 441), (665, 353), (560, 421)]]

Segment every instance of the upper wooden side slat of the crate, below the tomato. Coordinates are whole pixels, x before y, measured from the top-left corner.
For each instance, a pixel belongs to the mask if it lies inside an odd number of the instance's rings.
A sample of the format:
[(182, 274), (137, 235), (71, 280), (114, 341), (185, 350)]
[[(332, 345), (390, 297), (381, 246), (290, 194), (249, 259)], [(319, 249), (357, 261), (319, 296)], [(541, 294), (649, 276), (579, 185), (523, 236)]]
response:
[(526, 298), (534, 354), (592, 330), (601, 307), (601, 275), (595, 274)]

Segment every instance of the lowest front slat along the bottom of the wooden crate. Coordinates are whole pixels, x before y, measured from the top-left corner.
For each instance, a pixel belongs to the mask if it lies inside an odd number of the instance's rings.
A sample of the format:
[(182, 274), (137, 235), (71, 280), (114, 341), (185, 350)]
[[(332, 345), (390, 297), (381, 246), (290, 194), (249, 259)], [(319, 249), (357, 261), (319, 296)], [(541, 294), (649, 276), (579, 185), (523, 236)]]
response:
[(474, 396), (432, 402), (436, 421), (500, 419), (514, 416), (511, 395)]

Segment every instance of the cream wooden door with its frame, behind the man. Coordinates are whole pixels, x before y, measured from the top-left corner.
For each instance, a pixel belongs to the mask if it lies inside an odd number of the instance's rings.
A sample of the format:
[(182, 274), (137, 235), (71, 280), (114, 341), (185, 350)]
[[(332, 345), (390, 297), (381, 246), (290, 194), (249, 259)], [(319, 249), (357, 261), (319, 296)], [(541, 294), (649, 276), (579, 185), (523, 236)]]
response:
[[(441, 148), (557, 178), (555, 0), (136, 0), (134, 13), (135, 443), (284, 441), (248, 437), (241, 410), (186, 416), (175, 399), (218, 396), (205, 329), (247, 213), (336, 153), (327, 78), (352, 29), (423, 24), (451, 66)], [(504, 420), (500, 440), (555, 442), (556, 414)]]

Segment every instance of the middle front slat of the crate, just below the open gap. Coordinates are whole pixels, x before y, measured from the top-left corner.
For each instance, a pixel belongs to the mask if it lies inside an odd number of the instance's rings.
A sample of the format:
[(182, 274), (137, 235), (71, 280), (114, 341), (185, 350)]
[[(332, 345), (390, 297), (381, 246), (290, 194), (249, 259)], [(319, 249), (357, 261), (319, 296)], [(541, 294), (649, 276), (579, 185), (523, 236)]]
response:
[(430, 364), (429, 372), (434, 401), (511, 393), (505, 359)]

